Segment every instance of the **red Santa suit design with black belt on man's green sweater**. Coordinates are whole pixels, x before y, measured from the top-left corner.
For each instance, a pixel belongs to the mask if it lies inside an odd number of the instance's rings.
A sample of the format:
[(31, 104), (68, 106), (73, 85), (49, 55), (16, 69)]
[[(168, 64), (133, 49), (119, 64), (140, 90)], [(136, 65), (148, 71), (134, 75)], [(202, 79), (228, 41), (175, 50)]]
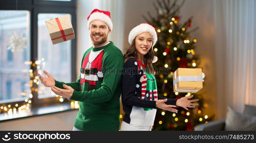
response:
[(84, 58), (81, 69), (80, 91), (84, 82), (88, 82), (88, 91), (96, 89), (96, 82), (103, 81), (102, 57), (104, 51), (90, 51)]

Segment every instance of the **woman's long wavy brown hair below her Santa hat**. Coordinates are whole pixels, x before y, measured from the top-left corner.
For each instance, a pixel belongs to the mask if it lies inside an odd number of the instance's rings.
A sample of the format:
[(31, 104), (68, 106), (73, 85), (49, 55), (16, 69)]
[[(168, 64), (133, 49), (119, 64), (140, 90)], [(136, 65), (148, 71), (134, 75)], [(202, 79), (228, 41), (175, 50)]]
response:
[[(135, 39), (136, 38), (134, 38), (132, 40), (132, 45), (129, 47), (129, 49), (124, 54), (124, 63), (126, 63), (126, 61), (128, 59), (131, 59), (131, 58), (137, 59), (138, 58), (138, 54), (137, 54), (138, 51), (136, 50), (136, 47), (135, 47)], [(149, 74), (154, 74), (153, 65), (152, 65), (154, 55), (155, 55), (155, 53), (153, 51), (152, 46), (150, 47), (150, 50), (147, 52), (147, 54), (144, 55), (144, 62), (145, 62), (145, 65), (146, 65), (146, 71)]]

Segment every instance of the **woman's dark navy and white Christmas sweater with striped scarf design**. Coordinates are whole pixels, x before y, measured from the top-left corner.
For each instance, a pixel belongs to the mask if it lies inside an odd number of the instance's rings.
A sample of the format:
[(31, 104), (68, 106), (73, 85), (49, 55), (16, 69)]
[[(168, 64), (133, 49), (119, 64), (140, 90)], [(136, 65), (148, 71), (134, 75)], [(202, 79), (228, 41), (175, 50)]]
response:
[[(140, 126), (153, 126), (156, 116), (156, 101), (166, 99), (158, 96), (156, 78), (145, 72), (145, 65), (135, 58), (124, 64), (122, 75), (123, 121)], [(167, 99), (165, 104), (176, 105), (177, 99)]]

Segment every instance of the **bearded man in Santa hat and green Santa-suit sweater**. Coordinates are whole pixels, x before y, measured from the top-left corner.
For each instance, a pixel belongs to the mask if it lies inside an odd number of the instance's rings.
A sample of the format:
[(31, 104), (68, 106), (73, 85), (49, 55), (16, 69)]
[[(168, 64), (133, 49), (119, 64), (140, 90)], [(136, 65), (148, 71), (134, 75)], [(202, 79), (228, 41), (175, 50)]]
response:
[(112, 30), (109, 11), (94, 9), (88, 16), (92, 40), (82, 58), (81, 74), (76, 82), (64, 83), (43, 71), (42, 84), (69, 100), (79, 101), (73, 130), (119, 130), (123, 54), (108, 35)]

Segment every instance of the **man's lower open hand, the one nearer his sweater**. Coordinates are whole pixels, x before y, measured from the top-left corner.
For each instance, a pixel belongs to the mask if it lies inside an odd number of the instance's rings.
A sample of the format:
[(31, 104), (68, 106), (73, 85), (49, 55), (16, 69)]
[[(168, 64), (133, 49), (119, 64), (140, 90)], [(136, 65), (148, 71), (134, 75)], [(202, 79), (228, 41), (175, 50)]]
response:
[(70, 86), (67, 86), (66, 84), (63, 84), (63, 87), (66, 89), (60, 89), (60, 88), (57, 88), (56, 86), (52, 86), (51, 89), (55, 94), (59, 96), (63, 96), (68, 99), (71, 98), (74, 92), (74, 89), (71, 88)]

